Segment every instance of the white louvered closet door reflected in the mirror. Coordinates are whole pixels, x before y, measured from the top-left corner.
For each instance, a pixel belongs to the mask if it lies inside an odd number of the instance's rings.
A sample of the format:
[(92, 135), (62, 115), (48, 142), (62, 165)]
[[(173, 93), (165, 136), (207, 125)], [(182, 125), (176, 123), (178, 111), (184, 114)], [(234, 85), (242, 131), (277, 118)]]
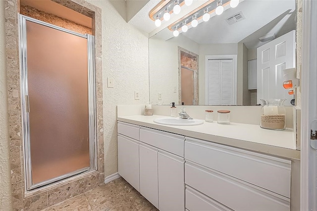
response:
[(208, 105), (233, 105), (233, 60), (209, 59)]

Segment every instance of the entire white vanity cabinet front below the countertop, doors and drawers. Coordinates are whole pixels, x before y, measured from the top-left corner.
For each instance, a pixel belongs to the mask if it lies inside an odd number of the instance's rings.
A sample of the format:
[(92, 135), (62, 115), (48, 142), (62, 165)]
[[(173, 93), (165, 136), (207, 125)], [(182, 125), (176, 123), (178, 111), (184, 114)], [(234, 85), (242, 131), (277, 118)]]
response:
[(160, 211), (290, 211), (291, 165), (290, 159), (118, 123), (119, 174)]

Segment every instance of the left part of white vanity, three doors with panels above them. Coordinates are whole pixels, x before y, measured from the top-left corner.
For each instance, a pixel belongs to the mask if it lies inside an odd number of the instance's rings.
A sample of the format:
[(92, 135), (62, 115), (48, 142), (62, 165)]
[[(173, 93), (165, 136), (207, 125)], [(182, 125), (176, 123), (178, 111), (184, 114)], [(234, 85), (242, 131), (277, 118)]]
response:
[(160, 211), (185, 210), (184, 141), (118, 122), (118, 173)]

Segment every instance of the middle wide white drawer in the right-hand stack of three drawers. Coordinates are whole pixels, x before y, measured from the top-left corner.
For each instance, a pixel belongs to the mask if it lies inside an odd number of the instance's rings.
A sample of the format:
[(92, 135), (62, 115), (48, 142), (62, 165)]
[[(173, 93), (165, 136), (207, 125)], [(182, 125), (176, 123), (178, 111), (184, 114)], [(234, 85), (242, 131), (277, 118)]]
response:
[(286, 197), (190, 161), (185, 163), (185, 183), (235, 211), (290, 210)]

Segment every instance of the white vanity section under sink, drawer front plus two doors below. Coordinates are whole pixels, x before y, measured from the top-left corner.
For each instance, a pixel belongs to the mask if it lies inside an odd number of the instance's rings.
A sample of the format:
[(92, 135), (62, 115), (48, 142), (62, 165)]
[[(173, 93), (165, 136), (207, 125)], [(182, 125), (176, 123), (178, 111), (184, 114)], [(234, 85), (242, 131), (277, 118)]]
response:
[[(140, 193), (156, 207), (158, 199), (160, 211), (185, 210), (184, 140), (181, 135), (140, 128)], [(155, 182), (158, 188), (142, 193), (144, 186)]]

